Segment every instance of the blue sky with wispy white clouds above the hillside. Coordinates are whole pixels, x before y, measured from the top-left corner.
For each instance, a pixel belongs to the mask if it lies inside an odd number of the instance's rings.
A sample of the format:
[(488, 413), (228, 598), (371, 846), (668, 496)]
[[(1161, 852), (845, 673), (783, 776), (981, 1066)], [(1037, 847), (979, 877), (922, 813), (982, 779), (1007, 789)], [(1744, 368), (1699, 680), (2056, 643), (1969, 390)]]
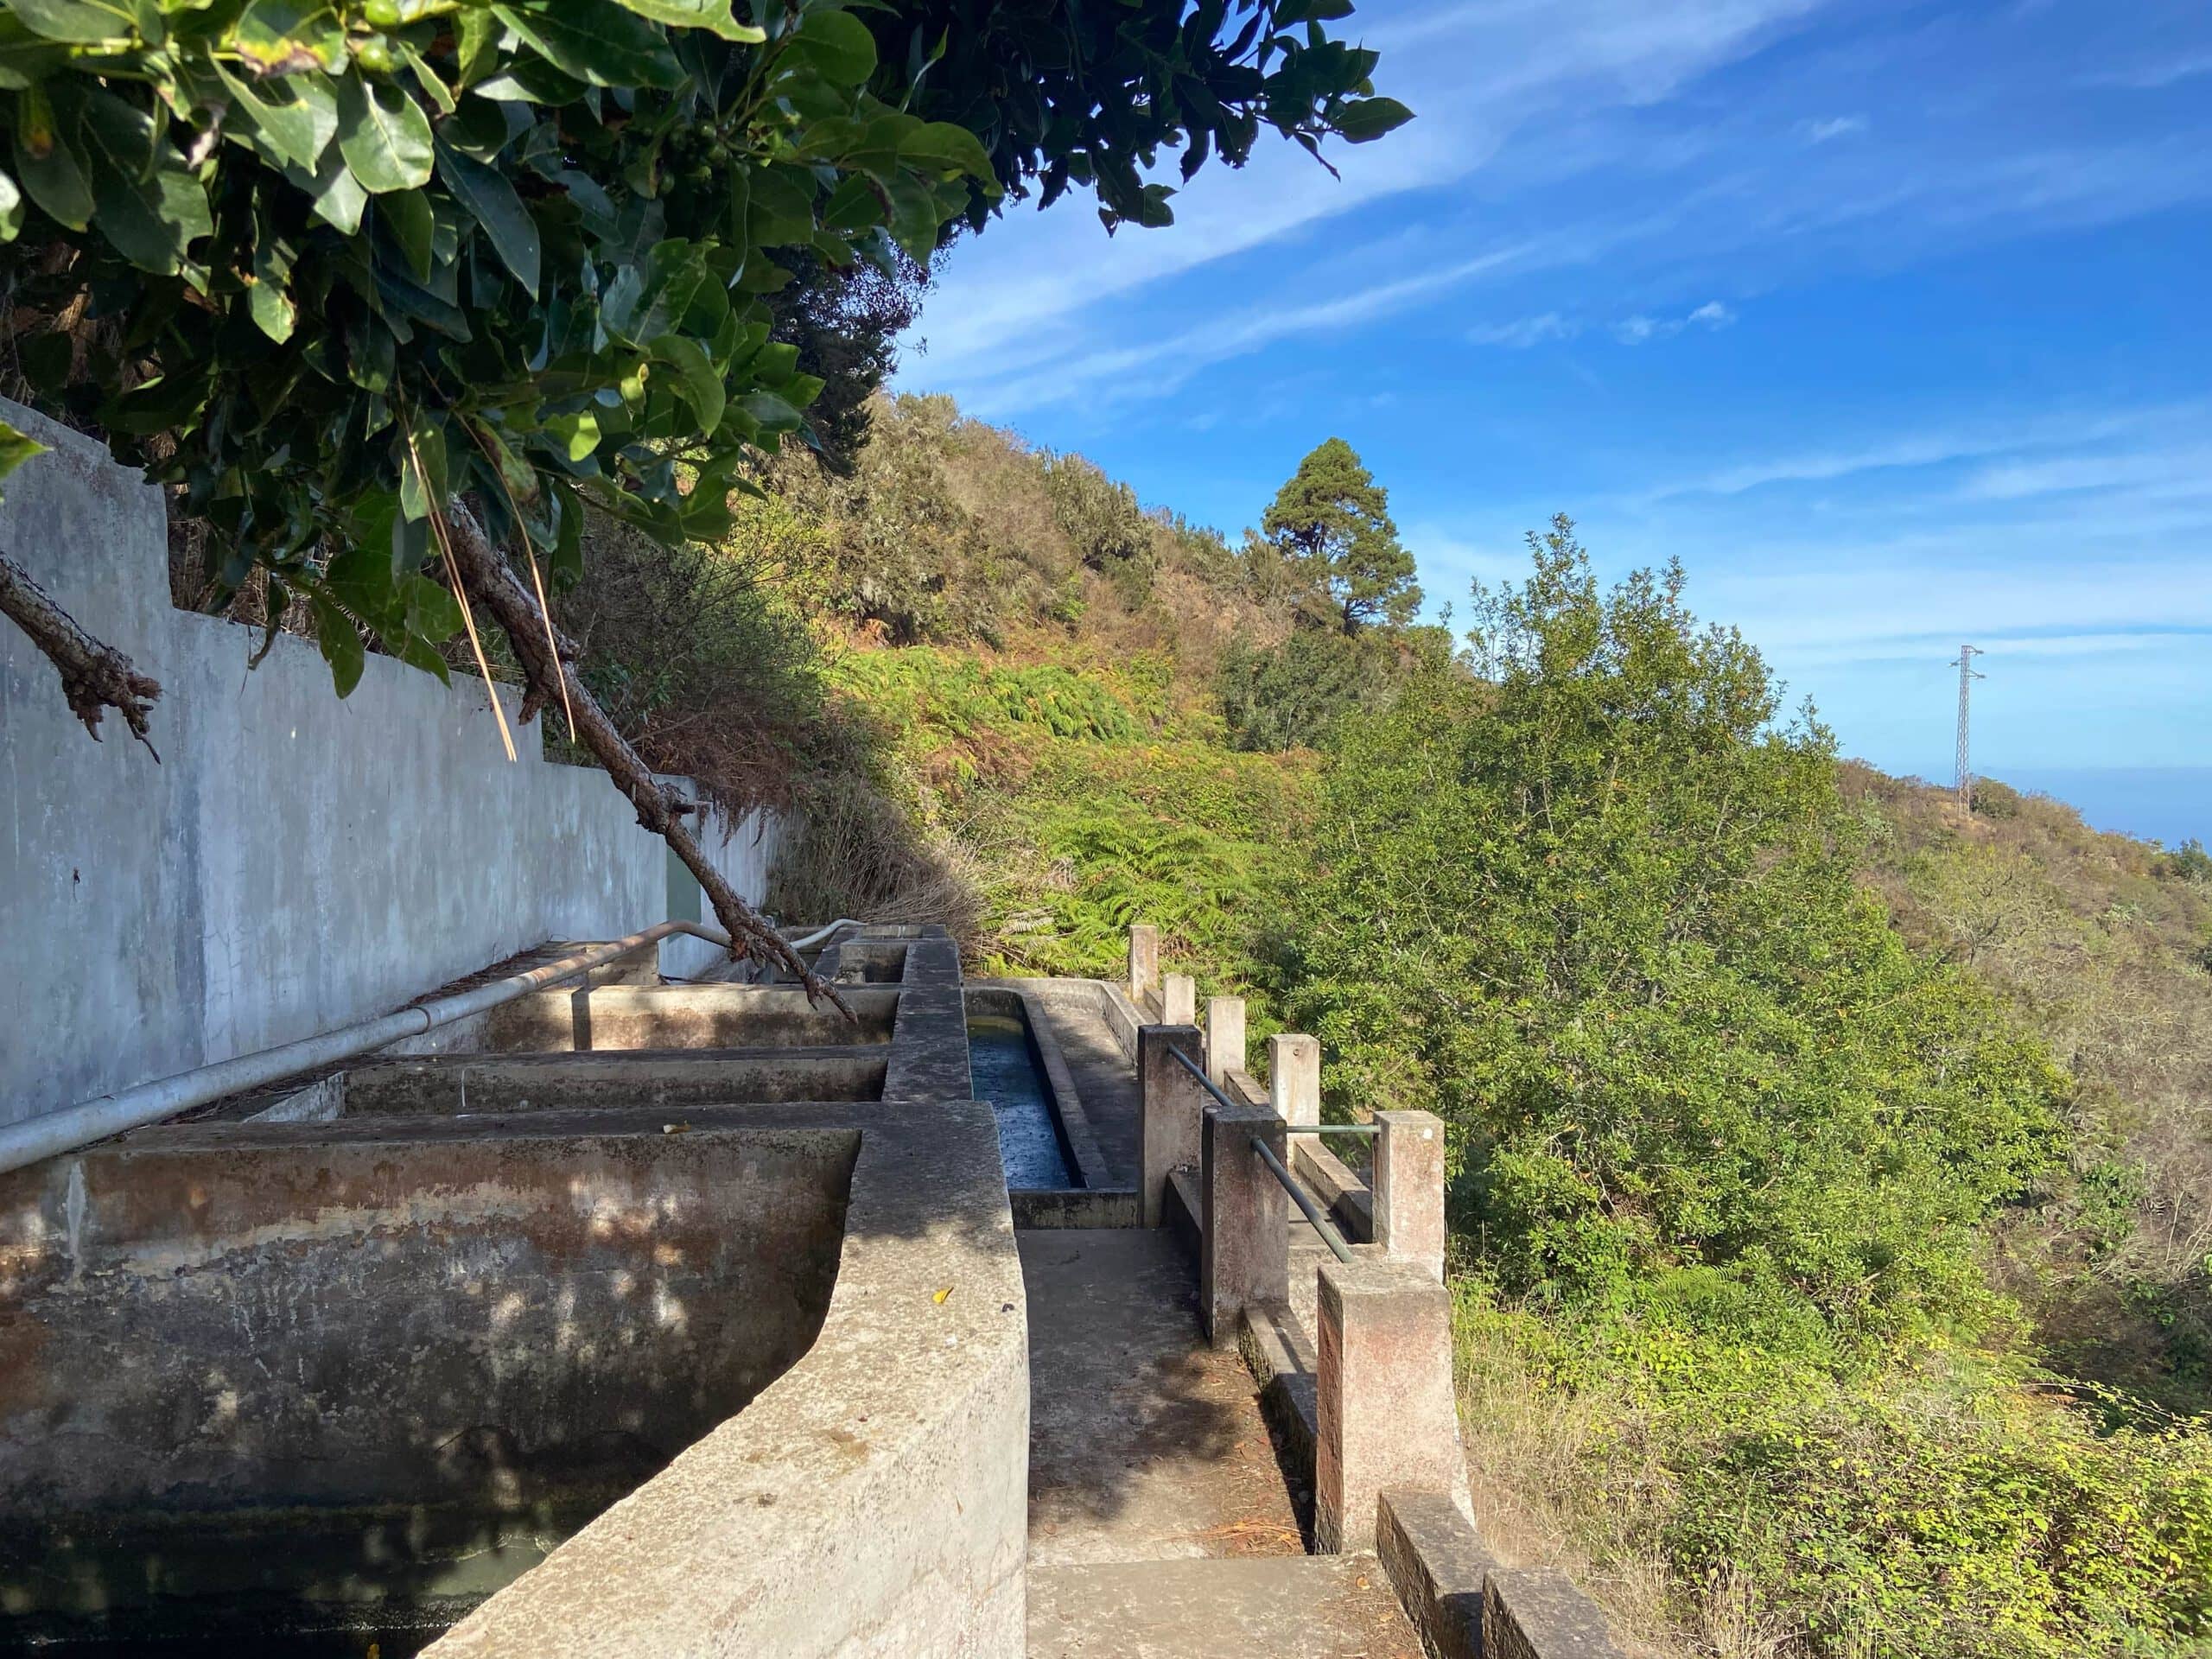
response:
[[(1845, 748), (2212, 763), (2212, 7), (1365, 4), (1418, 119), (958, 246), (900, 383), (1230, 533), (1338, 434), (1464, 615), (1553, 511)], [(2212, 779), (2212, 774), (2201, 774)], [(2117, 823), (2143, 834), (2203, 825)], [(2115, 810), (2117, 812), (2117, 810)], [(2190, 807), (2194, 814), (2197, 807)], [(2112, 814), (2108, 814), (2112, 816)], [(2126, 816), (2126, 814), (2117, 814)]]

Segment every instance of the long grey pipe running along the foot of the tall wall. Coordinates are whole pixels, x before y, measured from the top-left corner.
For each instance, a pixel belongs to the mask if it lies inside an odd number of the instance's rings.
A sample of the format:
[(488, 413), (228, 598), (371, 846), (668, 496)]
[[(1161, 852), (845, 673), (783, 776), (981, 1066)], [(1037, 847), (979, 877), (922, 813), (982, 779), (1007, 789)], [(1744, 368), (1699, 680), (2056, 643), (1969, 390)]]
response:
[(591, 969), (606, 967), (608, 962), (630, 956), (633, 951), (641, 951), (648, 945), (659, 945), (664, 938), (675, 933), (690, 933), (692, 938), (703, 938), (708, 945), (721, 945), (723, 949), (730, 945), (730, 936), (719, 927), (703, 927), (701, 922), (661, 922), (659, 927), (648, 927), (641, 933), (630, 933), (628, 938), (619, 938), (608, 945), (595, 945), (588, 951), (575, 951), (573, 956), (529, 969), (526, 973), (511, 973), (504, 980), (480, 984), (473, 991), (453, 991), (451, 995), (396, 1009), (394, 1013), (378, 1015), (376, 1020), (361, 1020), (358, 1024), (325, 1031), (319, 1037), (301, 1037), (299, 1042), (288, 1042), (279, 1048), (261, 1048), (259, 1053), (219, 1060), (212, 1066), (179, 1071), (175, 1077), (159, 1077), (150, 1084), (119, 1088), (113, 1095), (86, 1099), (77, 1106), (44, 1113), (42, 1117), (31, 1117), (22, 1124), (0, 1128), (0, 1172), (20, 1170), (24, 1164), (38, 1164), (62, 1152), (73, 1152), (80, 1146), (106, 1139), (108, 1135), (122, 1135), (126, 1128), (159, 1124), (164, 1117), (175, 1117), (192, 1106), (206, 1106), (212, 1099), (223, 1099), (226, 1095), (237, 1095), (246, 1088), (261, 1088), (301, 1071), (314, 1071), (316, 1066), (330, 1066), (338, 1060), (352, 1060), (354, 1055), (385, 1048), (400, 1037), (418, 1037), (425, 1031), (436, 1031), (438, 1026), (449, 1026), (456, 1020), (467, 1020), (469, 1015), (498, 1009), (502, 1002), (513, 1002), (531, 991), (542, 991), (549, 984), (575, 978), (577, 973), (591, 973)]

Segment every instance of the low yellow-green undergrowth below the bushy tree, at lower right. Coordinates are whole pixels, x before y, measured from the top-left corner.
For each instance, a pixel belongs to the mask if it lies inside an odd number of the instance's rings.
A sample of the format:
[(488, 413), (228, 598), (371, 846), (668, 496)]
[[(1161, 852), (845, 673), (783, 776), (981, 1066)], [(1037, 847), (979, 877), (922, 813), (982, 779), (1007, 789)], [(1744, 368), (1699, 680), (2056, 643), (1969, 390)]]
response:
[(2119, 1427), (2017, 1360), (1838, 1376), (1679, 1323), (1537, 1318), (1458, 1285), (1478, 1504), (1697, 1652), (2201, 1652), (2212, 1438)]

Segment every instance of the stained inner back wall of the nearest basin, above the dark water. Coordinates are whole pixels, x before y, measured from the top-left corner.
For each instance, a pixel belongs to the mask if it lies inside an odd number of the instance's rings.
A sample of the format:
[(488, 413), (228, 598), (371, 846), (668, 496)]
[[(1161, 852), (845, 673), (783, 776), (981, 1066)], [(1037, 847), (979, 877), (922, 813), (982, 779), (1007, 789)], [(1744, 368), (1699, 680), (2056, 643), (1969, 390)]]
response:
[(650, 1475), (814, 1343), (860, 1137), (635, 1119), (208, 1124), (0, 1177), (0, 1515)]

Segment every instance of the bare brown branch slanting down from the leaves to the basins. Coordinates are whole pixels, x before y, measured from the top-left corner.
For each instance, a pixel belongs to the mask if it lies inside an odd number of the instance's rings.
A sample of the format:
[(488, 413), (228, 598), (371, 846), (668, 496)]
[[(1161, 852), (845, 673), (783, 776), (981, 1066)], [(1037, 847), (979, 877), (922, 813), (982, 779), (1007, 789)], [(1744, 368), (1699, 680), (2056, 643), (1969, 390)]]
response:
[(584, 688), (582, 677), (571, 664), (575, 646), (560, 639), (555, 650), (551, 641), (557, 639), (557, 633), (551, 619), (538, 608), (538, 599), (522, 584), (522, 577), (515, 575), (513, 566), (491, 546), (476, 515), (456, 502), (447, 524), (453, 531), (453, 568), (460, 571), (469, 599), (500, 624), (515, 657), (522, 661), (526, 677), (524, 719), (549, 701), (557, 701), (560, 688), (566, 681), (568, 710), (575, 717), (573, 737), (591, 750), (593, 759), (615, 781), (615, 787), (637, 807), (637, 823), (666, 841), (677, 858), (699, 878), (699, 887), (714, 902), (714, 918), (730, 936), (730, 956), (752, 956), (774, 962), (799, 978), (810, 1002), (827, 998), (841, 1013), (852, 1018), (852, 1006), (838, 995), (836, 987), (812, 973), (799, 960), (799, 953), (708, 863), (697, 836), (684, 823), (684, 814), (697, 807), (653, 776), (653, 770), (637, 757), (630, 741)]

